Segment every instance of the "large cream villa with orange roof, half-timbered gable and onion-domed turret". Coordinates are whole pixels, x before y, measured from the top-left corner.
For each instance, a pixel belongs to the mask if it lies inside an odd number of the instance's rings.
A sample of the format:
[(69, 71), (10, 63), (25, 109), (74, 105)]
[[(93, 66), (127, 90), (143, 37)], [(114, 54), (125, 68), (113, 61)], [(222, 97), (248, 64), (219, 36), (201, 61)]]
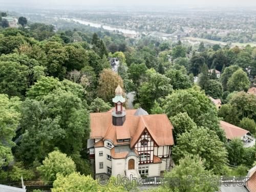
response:
[(95, 178), (111, 175), (159, 177), (172, 166), (173, 125), (166, 115), (148, 115), (143, 109), (125, 110), (120, 86), (113, 98), (115, 108), (91, 113), (88, 140)]

